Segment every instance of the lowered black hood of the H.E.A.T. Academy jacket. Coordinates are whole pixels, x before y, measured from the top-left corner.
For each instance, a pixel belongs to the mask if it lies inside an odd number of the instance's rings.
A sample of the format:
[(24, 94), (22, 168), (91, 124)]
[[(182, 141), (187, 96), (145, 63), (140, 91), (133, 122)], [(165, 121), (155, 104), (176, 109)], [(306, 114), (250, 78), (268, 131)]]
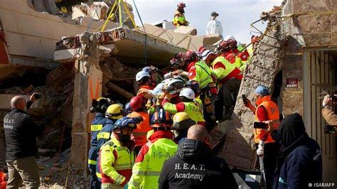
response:
[(203, 141), (186, 139), (178, 147), (178, 157), (187, 162), (205, 161), (210, 156), (210, 147)]

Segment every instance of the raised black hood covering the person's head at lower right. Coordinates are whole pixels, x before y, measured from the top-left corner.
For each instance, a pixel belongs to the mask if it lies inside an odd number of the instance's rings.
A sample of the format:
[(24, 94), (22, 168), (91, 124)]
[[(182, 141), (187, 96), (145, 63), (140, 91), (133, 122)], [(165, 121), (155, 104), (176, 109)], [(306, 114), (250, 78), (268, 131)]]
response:
[(306, 128), (300, 114), (290, 114), (285, 117), (279, 125), (279, 140), (283, 144), (284, 151), (294, 147), (296, 142), (306, 136)]

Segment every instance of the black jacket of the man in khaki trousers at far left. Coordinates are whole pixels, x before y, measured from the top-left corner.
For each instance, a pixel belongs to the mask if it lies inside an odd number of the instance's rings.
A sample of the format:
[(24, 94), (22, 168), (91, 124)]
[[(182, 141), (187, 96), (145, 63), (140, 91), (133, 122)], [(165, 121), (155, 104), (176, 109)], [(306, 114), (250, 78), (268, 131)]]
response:
[(11, 109), (11, 112), (4, 117), (4, 131), (6, 161), (36, 155), (38, 152), (36, 136), (40, 136), (42, 131), (30, 115), (21, 109)]

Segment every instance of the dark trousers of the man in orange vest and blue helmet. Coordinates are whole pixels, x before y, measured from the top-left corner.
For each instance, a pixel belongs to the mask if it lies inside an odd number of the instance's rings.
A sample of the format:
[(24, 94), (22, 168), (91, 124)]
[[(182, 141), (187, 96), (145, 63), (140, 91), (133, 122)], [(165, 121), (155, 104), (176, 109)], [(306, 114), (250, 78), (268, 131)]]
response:
[[(258, 144), (255, 144), (256, 146)], [(264, 155), (263, 155), (263, 164), (264, 164), (264, 174), (266, 175), (266, 188), (272, 188), (273, 184), (273, 175), (276, 169), (276, 159), (279, 148), (275, 142), (264, 144)], [(257, 156), (257, 166), (260, 169), (260, 156)], [(277, 180), (275, 180), (277, 182)]]

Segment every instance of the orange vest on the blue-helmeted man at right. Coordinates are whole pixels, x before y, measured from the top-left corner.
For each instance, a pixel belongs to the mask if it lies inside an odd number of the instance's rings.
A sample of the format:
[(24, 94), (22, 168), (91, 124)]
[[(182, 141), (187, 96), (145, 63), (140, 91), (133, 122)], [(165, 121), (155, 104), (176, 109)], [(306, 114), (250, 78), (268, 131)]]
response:
[[(272, 97), (270, 95), (262, 97), (262, 103), (258, 104), (257, 109), (263, 106), (267, 110), (267, 120), (273, 121), (274, 129), (279, 129), (279, 108), (275, 102), (272, 102)], [(257, 117), (257, 110), (255, 111), (255, 121), (260, 122), (259, 117)], [(267, 140), (265, 143), (275, 142), (272, 136), (264, 129), (254, 129), (254, 141), (259, 143), (262, 138), (262, 134), (267, 134)]]

